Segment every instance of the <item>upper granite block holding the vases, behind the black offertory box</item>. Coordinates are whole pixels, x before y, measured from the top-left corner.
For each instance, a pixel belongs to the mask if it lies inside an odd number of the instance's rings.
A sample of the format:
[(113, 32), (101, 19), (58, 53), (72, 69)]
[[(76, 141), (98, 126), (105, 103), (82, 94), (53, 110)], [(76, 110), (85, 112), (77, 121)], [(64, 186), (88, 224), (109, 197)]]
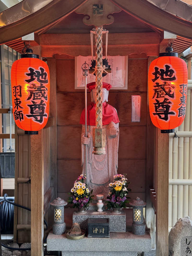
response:
[(87, 221), (89, 218), (109, 218), (110, 232), (126, 232), (126, 215), (122, 210), (121, 214), (114, 214), (111, 210), (104, 210), (102, 214), (97, 211), (87, 210), (86, 214), (73, 212), (73, 223), (79, 223), (81, 229), (87, 229)]

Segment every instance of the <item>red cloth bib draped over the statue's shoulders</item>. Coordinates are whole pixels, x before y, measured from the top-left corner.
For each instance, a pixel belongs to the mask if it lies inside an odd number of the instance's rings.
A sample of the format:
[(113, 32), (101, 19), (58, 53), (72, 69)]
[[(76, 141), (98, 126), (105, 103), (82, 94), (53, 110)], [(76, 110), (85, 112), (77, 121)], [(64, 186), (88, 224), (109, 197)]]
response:
[[(87, 125), (95, 126), (95, 103), (91, 103), (87, 107)], [(103, 125), (109, 124), (111, 122), (119, 123), (119, 118), (117, 112), (113, 108), (113, 106), (103, 102), (103, 118), (102, 123)], [(80, 118), (80, 124), (85, 124), (85, 109), (83, 109)]]

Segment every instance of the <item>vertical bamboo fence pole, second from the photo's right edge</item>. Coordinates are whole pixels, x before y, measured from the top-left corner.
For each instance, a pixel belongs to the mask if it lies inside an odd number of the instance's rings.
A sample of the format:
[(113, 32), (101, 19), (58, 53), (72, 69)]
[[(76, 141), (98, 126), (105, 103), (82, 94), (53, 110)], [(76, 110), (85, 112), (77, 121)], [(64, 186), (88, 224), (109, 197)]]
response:
[[(189, 131), (190, 126), (190, 90), (187, 91), (186, 115), (184, 120), (184, 130)], [(184, 163), (183, 178), (189, 178), (189, 137), (184, 137)], [(188, 215), (189, 186), (183, 188), (183, 217)]]

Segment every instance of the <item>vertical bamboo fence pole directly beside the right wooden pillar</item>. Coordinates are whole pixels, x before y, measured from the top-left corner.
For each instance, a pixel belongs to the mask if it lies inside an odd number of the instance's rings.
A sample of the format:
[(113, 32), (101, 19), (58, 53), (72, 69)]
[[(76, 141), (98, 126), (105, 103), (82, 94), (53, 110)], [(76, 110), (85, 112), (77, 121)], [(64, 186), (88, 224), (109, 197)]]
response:
[[(169, 179), (172, 179), (173, 172), (173, 138), (169, 137)], [(169, 199), (168, 199), (168, 226), (172, 226), (172, 185), (169, 185)]]

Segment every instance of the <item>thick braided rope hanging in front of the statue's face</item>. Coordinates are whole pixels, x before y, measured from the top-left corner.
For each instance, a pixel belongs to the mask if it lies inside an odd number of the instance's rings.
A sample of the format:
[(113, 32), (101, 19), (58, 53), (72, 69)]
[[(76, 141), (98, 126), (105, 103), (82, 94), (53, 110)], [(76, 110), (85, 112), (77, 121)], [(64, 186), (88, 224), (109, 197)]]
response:
[(95, 46), (96, 46), (96, 65), (95, 65), (95, 82), (96, 82), (96, 107), (95, 107), (95, 123), (96, 128), (102, 128), (103, 104), (102, 104), (102, 87), (103, 87), (103, 48), (102, 48), (102, 30), (103, 26), (96, 27)]

